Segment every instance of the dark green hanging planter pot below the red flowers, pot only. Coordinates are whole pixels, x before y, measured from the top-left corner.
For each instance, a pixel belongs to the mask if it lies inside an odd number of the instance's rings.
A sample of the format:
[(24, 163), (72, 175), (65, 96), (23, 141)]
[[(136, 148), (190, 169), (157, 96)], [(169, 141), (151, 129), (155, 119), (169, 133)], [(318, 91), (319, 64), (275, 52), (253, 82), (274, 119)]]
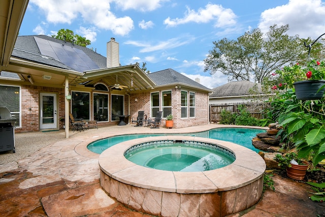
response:
[(297, 81), (294, 83), (298, 100), (320, 100), (325, 88), (318, 89), (325, 84), (324, 80)]

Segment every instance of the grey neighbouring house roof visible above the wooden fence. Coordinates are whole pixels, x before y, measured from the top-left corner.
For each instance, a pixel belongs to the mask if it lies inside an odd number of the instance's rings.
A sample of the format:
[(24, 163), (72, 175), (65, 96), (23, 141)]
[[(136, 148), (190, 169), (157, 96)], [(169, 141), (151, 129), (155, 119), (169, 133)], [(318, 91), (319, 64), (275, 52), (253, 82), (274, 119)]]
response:
[(243, 80), (231, 81), (213, 88), (212, 90), (214, 92), (210, 95), (210, 98), (247, 96), (250, 95), (249, 89), (253, 88), (255, 85), (257, 85), (259, 94), (263, 94), (261, 84)]

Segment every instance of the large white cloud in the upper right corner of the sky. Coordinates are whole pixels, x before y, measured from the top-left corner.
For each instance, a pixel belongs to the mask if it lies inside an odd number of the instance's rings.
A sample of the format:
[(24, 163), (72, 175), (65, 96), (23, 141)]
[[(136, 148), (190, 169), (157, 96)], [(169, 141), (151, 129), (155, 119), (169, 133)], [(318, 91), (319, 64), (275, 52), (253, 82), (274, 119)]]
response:
[(289, 24), (289, 35), (316, 39), (324, 33), (324, 14), (325, 5), (320, 0), (290, 0), (286, 5), (264, 11), (258, 27), (268, 32), (274, 23)]

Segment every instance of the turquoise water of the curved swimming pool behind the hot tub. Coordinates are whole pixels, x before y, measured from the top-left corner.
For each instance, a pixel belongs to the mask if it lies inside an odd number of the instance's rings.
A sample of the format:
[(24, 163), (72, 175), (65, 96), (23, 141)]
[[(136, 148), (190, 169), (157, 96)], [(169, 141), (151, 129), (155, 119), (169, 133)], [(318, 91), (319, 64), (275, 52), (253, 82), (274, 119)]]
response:
[(264, 133), (265, 130), (251, 129), (251, 128), (216, 128), (209, 131), (203, 131), (199, 133), (187, 133), (187, 134), (132, 134), (114, 136), (106, 139), (94, 141), (90, 143), (87, 148), (95, 153), (102, 153), (107, 148), (127, 140), (153, 137), (153, 136), (166, 136), (166, 135), (180, 135), (180, 136), (197, 136), (210, 139), (219, 139), (223, 141), (233, 142), (242, 146), (245, 146), (253, 151), (260, 151), (252, 145), (252, 139), (258, 133)]

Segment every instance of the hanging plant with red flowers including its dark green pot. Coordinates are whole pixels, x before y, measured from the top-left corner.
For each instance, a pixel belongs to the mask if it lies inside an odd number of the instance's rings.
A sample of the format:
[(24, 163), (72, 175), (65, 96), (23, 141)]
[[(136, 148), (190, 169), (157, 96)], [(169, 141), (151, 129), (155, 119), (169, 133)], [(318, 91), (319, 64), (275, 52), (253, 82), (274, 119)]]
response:
[[(295, 86), (296, 97), (299, 100), (320, 100), (325, 91), (325, 63), (311, 60), (305, 66), (296, 64), (277, 70), (280, 77), (288, 81), (289, 88)], [(283, 87), (284, 84), (279, 84)], [(273, 88), (276, 88), (274, 86)]]

